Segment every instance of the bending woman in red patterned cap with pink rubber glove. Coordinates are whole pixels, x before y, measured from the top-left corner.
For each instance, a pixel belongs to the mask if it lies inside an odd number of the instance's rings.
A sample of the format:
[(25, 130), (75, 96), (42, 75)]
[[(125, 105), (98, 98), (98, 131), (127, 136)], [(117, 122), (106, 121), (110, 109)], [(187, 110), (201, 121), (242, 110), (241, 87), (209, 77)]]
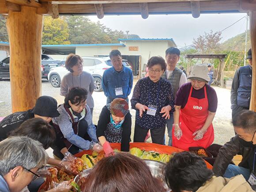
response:
[(131, 127), (132, 117), (126, 100), (115, 98), (103, 107), (96, 133), (106, 156), (113, 154), (109, 143), (121, 143), (121, 151), (129, 151)]

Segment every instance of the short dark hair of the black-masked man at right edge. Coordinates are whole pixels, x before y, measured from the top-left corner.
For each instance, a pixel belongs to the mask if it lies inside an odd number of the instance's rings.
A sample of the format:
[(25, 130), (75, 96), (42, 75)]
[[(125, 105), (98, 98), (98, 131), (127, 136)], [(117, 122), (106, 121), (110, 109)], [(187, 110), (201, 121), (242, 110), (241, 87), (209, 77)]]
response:
[(232, 123), (234, 127), (253, 134), (256, 131), (256, 112), (243, 110), (234, 116)]

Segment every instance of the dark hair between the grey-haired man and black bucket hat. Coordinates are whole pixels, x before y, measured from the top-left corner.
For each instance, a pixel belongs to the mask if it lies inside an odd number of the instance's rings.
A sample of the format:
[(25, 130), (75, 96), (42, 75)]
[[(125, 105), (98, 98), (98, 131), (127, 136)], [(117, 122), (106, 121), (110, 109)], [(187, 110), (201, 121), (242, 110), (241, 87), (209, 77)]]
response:
[(32, 118), (24, 121), (19, 128), (10, 132), (9, 136), (27, 136), (42, 143), (48, 149), (55, 143), (54, 128), (41, 118)]

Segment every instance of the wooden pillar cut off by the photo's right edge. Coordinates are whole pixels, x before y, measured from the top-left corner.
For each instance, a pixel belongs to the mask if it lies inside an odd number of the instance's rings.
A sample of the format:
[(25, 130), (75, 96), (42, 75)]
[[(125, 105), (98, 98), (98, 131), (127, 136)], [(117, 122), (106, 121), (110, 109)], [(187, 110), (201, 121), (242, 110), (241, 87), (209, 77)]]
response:
[(256, 112), (256, 11), (250, 12), (250, 25), (252, 42), (252, 95), (250, 110)]

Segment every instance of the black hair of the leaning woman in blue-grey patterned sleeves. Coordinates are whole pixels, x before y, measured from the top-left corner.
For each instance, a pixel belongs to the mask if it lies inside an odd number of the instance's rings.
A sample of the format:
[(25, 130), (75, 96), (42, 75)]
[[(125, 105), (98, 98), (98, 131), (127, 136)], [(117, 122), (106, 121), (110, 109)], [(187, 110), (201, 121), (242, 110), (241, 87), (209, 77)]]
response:
[(64, 99), (64, 105), (70, 108), (68, 101), (72, 104), (80, 104), (87, 99), (88, 91), (84, 88), (74, 87), (69, 90), (68, 94)]

